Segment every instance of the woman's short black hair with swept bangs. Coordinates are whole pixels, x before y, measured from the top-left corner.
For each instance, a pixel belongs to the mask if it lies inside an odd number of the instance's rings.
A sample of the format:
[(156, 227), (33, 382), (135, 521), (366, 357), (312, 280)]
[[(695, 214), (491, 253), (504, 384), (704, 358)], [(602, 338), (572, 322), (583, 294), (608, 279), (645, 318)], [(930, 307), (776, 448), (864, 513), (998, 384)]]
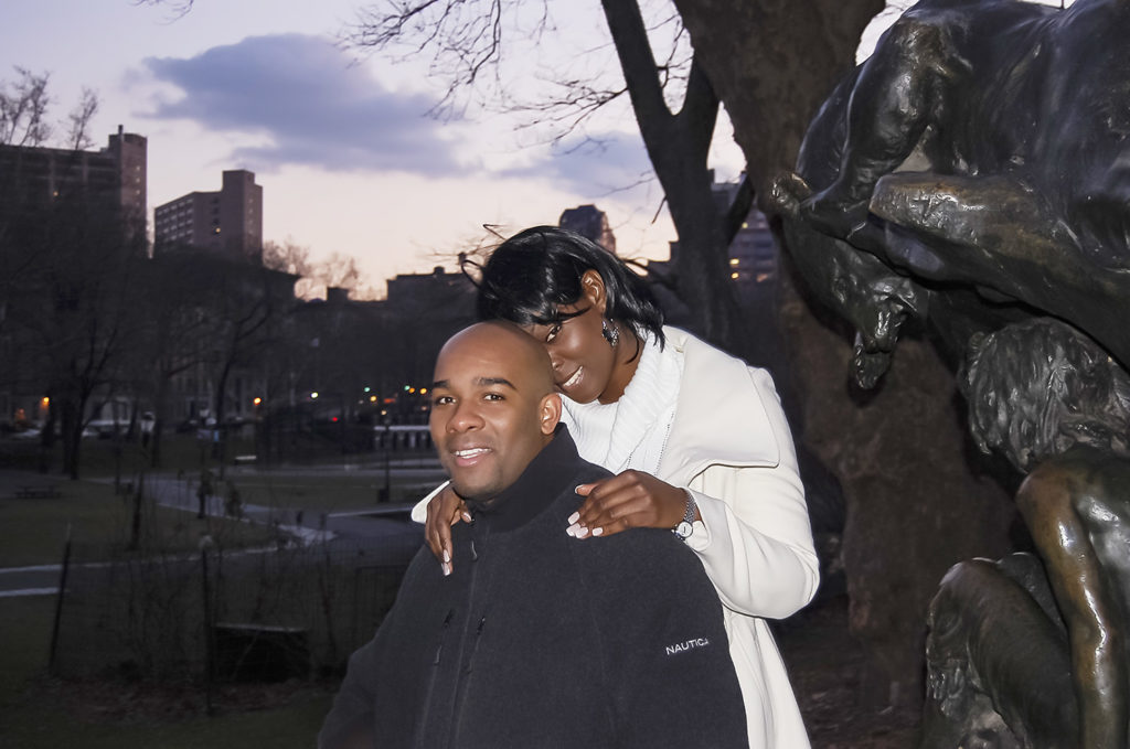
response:
[(534, 226), (498, 245), (479, 281), (480, 320), (510, 320), (519, 325), (549, 325), (566, 320), (559, 308), (581, 301), (588, 270), (605, 281), (605, 315), (650, 332), (663, 345), (663, 312), (640, 276), (600, 245), (575, 232)]

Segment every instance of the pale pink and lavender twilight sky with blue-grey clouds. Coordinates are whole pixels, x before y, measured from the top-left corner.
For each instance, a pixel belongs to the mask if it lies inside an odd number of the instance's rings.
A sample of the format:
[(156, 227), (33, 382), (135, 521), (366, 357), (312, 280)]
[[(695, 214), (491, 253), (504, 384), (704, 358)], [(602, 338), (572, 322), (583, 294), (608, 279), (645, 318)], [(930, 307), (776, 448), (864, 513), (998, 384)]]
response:
[[(315, 259), (353, 255), (380, 296), (395, 273), (453, 269), (483, 224), (510, 234), (581, 203), (609, 215), (621, 254), (666, 256), (673, 229), (666, 211), (652, 221), (658, 185), (637, 184), (650, 165), (626, 106), (557, 145), (473, 103), (431, 119), (441, 90), (427, 60), (393, 64), (336, 43), (363, 2), (195, 0), (175, 17), (132, 0), (2, 0), (0, 82), (16, 79), (16, 66), (50, 72), (56, 122), (84, 86), (94, 89), (98, 147), (119, 123), (146, 136), (150, 221), (163, 202), (218, 190), (223, 169), (251, 169), (263, 185), (264, 238), (306, 245)], [(664, 2), (644, 6), (662, 12)], [(549, 87), (549, 69), (588, 76), (615, 64), (599, 3), (550, 7), (556, 44), (511, 47), (522, 62), (511, 68), (515, 94)], [(722, 120), (712, 166), (732, 180), (740, 151)]]

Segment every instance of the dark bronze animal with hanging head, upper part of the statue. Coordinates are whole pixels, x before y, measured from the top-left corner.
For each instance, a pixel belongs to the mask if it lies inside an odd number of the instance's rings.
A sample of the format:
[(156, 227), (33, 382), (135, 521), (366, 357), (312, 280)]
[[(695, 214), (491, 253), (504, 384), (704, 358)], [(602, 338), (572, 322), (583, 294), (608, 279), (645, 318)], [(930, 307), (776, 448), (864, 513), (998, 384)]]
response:
[(861, 385), (910, 319), (959, 350), (1050, 314), (1130, 365), (1128, 35), (1130, 0), (922, 0), (827, 99), (773, 202)]

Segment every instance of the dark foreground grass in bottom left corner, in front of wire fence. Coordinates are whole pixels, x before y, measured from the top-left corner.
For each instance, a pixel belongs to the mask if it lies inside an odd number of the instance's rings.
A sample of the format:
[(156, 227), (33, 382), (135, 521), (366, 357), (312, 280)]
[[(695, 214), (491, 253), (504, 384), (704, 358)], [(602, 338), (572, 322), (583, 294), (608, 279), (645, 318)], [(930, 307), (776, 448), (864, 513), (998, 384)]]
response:
[[(299, 690), (282, 707), (220, 709), (181, 720), (113, 722), (79, 717), (60, 695), (66, 682), (45, 679), (54, 596), (0, 599), (0, 746), (6, 749), (308, 749), (331, 695)], [(114, 689), (107, 682), (104, 689)]]

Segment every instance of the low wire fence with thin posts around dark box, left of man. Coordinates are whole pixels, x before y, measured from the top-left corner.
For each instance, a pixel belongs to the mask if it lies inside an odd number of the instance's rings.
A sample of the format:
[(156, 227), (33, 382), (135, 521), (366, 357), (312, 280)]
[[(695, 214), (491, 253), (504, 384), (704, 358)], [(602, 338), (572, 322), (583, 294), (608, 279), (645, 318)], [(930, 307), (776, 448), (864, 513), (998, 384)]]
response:
[(399, 546), (138, 556), (75, 545), (52, 669), (208, 686), (340, 673), (392, 606), (414, 550)]

